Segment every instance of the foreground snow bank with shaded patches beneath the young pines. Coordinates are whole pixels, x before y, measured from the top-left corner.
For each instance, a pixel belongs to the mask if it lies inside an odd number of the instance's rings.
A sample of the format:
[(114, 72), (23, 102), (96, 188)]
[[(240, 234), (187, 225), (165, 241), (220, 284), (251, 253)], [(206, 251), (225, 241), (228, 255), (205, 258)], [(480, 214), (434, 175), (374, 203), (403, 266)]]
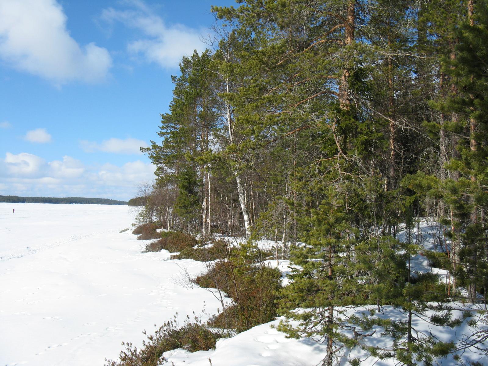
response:
[[(460, 304), (459, 304), (460, 305)], [(462, 306), (462, 305), (460, 305)], [(359, 317), (369, 314), (369, 307), (357, 307), (346, 310), (348, 315), (355, 314)], [(383, 319), (399, 320), (405, 319), (398, 309), (392, 306), (384, 306), (383, 314), (376, 316)], [(454, 311), (454, 316), (460, 316), (460, 311)], [(285, 334), (279, 332), (275, 327), (279, 318), (273, 322), (255, 326), (232, 338), (221, 339), (217, 342), (215, 350), (198, 351), (190, 353), (184, 349), (176, 349), (163, 353), (168, 365), (172, 366), (209, 366), (209, 360), (213, 366), (316, 366), (321, 365), (326, 353), (326, 345), (322, 342), (315, 342), (310, 338), (290, 339)], [(296, 322), (295, 322), (296, 324)], [(447, 327), (434, 326), (427, 324), (422, 319), (414, 317), (413, 326), (418, 332), (432, 332), (440, 341), (448, 342), (463, 338), (464, 334), (470, 333), (470, 329), (465, 322), (462, 326), (453, 330)], [(367, 346), (385, 347), (391, 345), (392, 339), (382, 335), (382, 329), (373, 327), (369, 332), (372, 334), (365, 338), (363, 342)], [(352, 337), (352, 334), (350, 334)], [(335, 361), (341, 366), (350, 365), (349, 361), (357, 358), (361, 361), (361, 366), (396, 366), (395, 360), (378, 360), (370, 357), (368, 353), (357, 347), (353, 350), (343, 349), (337, 352)], [(487, 365), (488, 360), (467, 350), (462, 355), (463, 361), (477, 361), (481, 365)], [(440, 366), (456, 366), (459, 362), (455, 361), (452, 355), (438, 359)], [(334, 364), (337, 365), (337, 364)]]

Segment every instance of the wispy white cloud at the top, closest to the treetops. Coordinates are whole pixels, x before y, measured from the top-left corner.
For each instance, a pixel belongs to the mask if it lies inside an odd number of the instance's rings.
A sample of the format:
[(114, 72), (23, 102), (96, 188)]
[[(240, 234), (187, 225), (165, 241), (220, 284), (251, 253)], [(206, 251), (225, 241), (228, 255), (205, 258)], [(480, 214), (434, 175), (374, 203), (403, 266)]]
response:
[(142, 32), (144, 38), (127, 44), (130, 53), (141, 54), (147, 61), (158, 63), (163, 68), (176, 68), (183, 55), (191, 55), (195, 49), (205, 49), (198, 30), (182, 24), (168, 26), (161, 17), (152, 14), (142, 1), (126, 3), (131, 4), (133, 9), (104, 9), (102, 20), (109, 23), (120, 21)]

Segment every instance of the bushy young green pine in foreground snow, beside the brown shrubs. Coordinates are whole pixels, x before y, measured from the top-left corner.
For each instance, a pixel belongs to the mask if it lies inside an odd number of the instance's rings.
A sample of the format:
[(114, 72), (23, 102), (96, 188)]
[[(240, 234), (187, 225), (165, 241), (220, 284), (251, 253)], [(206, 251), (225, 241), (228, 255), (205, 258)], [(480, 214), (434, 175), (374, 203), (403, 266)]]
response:
[(331, 188), (310, 217), (302, 217), (311, 229), (305, 234), (304, 247), (292, 252), (292, 263), (300, 269), (289, 276), (291, 283), (281, 301), (286, 318), (300, 323), (295, 327), (282, 322), (279, 329), (292, 337), (306, 335), (325, 343), (326, 366), (335, 363), (338, 345), (355, 346), (354, 340), (340, 332), (348, 325), (347, 315), (336, 307), (360, 305), (364, 299), (348, 260), (358, 233), (348, 225), (345, 211), (344, 200)]

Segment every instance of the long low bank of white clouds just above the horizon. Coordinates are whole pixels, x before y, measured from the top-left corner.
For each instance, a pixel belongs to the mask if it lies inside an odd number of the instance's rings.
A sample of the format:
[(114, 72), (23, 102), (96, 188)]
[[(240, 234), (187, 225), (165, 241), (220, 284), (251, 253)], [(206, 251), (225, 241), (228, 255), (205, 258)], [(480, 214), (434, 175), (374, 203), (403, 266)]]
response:
[(138, 184), (154, 178), (154, 169), (141, 161), (88, 166), (69, 156), (46, 162), (33, 154), (6, 153), (0, 158), (0, 193), (128, 200)]

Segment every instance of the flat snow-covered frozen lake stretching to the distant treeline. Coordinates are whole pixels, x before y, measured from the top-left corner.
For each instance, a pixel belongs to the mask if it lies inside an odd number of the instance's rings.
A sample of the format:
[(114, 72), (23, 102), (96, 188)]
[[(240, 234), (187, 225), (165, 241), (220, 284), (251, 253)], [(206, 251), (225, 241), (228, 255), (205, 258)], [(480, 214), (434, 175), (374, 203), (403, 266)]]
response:
[(0, 203), (1, 366), (102, 366), (176, 312), (217, 312), (209, 291), (173, 279), (203, 265), (141, 253), (119, 233), (132, 222), (127, 206)]

